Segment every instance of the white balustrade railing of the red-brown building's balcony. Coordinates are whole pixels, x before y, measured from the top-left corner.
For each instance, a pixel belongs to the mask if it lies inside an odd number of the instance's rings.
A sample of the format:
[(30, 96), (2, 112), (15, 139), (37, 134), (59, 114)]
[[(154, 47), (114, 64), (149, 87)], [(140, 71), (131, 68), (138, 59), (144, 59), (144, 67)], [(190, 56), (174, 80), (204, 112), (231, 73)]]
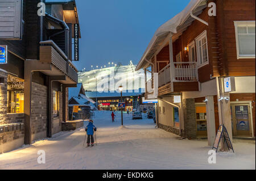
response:
[[(174, 71), (172, 73), (171, 71)], [(172, 75), (174, 77), (172, 77)], [(168, 64), (158, 73), (158, 87), (170, 82), (196, 82), (198, 81), (197, 62), (174, 62), (172, 67)]]

